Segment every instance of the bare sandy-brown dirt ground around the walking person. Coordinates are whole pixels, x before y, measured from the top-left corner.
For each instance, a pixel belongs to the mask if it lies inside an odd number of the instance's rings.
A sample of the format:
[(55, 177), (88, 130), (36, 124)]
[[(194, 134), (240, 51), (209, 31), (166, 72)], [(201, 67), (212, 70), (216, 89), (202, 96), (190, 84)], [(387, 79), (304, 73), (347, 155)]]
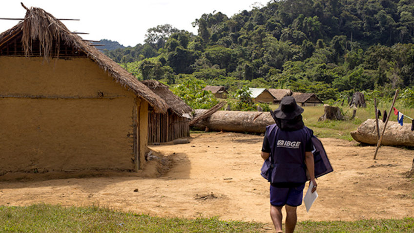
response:
[[(132, 174), (59, 179), (53, 174), (24, 174), (18, 180), (15, 174), (6, 174), (0, 177), (0, 205), (98, 205), (271, 226), (269, 184), (260, 176), (262, 139), (230, 132), (191, 134), (189, 144), (150, 146), (154, 154), (148, 157), (146, 169)], [(321, 141), (334, 172), (317, 180), (319, 197), (309, 213), (304, 205), (298, 207), (299, 221), (414, 216), (414, 181), (402, 175), (411, 168), (414, 150), (381, 147), (373, 160), (374, 146), (331, 138)], [(157, 177), (160, 173), (164, 174)]]

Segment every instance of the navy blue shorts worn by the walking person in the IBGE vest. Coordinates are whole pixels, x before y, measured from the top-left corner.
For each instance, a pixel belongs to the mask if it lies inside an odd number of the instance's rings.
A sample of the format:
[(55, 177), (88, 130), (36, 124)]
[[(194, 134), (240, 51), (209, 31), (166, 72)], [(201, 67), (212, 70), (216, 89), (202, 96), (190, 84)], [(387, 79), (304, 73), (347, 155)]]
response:
[(272, 206), (300, 206), (305, 184), (294, 188), (277, 188), (270, 185), (270, 204)]

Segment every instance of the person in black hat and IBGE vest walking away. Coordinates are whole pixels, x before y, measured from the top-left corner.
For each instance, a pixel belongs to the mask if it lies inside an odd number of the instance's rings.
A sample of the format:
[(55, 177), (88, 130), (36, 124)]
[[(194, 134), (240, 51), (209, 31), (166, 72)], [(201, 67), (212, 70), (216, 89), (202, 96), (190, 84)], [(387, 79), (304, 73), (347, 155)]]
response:
[[(261, 156), (270, 157), (270, 217), (277, 233), (282, 231), (282, 208), (286, 206), (286, 233), (293, 233), (302, 204), (307, 172), (316, 191), (311, 136), (302, 120), (304, 109), (291, 96), (284, 97), (272, 112), (276, 124), (266, 127)], [(305, 161), (305, 162), (304, 162)]]

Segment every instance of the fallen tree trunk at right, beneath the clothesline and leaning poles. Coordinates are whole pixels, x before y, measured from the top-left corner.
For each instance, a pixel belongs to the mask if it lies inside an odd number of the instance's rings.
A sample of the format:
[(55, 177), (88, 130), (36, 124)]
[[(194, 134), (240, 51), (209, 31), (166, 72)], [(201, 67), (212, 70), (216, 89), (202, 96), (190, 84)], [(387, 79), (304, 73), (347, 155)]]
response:
[[(385, 124), (383, 122), (378, 122), (378, 124), (382, 131)], [(355, 141), (376, 145), (378, 134), (375, 119), (366, 120), (356, 131), (351, 132), (351, 136)], [(388, 122), (381, 145), (414, 147), (414, 131), (411, 131), (411, 125), (401, 126), (397, 122)]]

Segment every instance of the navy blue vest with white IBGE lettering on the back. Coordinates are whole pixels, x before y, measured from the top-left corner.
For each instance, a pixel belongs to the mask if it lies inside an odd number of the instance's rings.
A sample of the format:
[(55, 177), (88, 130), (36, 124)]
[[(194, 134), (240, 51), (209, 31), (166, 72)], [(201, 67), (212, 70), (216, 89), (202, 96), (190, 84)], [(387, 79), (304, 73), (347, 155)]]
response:
[(266, 127), (270, 145), (271, 183), (305, 183), (305, 146), (311, 139), (311, 129), (303, 127), (295, 131), (278, 129), (276, 124)]

